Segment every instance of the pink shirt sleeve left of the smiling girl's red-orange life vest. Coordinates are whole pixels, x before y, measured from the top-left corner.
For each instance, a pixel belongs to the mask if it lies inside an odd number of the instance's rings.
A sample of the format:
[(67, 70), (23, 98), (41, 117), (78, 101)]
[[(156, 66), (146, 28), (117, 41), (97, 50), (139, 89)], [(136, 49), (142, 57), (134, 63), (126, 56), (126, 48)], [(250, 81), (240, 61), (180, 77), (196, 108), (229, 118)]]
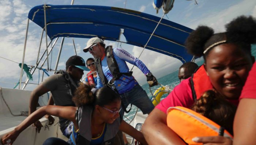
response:
[(193, 103), (192, 89), (191, 89), (191, 77), (181, 81), (173, 91), (163, 99), (155, 108), (166, 113), (169, 107), (183, 106), (191, 108)]

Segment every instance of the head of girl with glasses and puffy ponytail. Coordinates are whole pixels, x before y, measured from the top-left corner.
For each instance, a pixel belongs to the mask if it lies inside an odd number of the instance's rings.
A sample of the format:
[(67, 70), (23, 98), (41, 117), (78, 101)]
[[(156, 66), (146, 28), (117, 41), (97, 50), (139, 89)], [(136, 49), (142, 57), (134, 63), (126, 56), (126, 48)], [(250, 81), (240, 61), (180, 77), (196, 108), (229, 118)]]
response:
[(72, 98), (76, 106), (92, 105), (97, 116), (104, 122), (112, 124), (118, 117), (121, 109), (119, 94), (108, 87), (102, 87), (94, 93), (91, 86), (81, 83)]

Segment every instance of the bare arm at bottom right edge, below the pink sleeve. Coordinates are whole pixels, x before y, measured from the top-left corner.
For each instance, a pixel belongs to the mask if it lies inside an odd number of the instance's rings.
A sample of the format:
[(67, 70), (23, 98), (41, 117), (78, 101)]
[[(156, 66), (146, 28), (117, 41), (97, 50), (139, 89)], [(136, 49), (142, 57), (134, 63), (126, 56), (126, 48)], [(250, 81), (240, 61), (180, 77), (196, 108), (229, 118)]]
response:
[(255, 145), (256, 143), (256, 99), (242, 98), (234, 119), (233, 145)]

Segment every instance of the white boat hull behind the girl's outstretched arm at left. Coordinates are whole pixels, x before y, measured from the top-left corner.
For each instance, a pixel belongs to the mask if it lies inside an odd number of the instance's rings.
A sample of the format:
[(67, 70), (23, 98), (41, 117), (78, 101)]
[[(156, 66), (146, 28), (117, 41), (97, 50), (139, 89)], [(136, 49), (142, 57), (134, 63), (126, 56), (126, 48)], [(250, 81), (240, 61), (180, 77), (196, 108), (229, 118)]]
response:
[[(8, 89), (2, 88), (3, 96), (8, 106), (10, 107), (13, 114), (20, 114), (20, 111), (29, 110), (29, 98), (31, 91), (29, 90), (18, 90), (18, 89)], [(41, 102), (44, 98), (48, 99), (48, 95), (44, 94), (43, 98), (40, 98)], [(26, 116), (12, 116), (7, 106), (5, 105), (3, 98), (0, 96), (0, 138), (4, 134), (14, 130), (15, 126), (20, 124)], [(25, 129), (18, 138), (15, 140), (13, 145), (42, 145), (42, 143), (49, 137), (59, 137), (67, 140), (65, 136), (62, 135), (59, 124), (59, 118), (54, 117), (54, 124), (48, 126), (48, 120), (46, 118), (40, 119), (42, 127), (40, 133), (35, 133), (35, 128), (31, 125), (29, 128)], [(48, 129), (48, 127), (49, 129)]]

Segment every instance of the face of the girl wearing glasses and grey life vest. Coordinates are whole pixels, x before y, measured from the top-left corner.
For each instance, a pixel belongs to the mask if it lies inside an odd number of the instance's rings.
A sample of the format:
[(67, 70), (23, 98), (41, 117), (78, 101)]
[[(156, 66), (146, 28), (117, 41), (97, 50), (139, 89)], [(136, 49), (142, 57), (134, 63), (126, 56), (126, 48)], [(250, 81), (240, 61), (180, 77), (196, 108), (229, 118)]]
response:
[[(105, 108), (103, 108), (105, 107)], [(104, 122), (108, 123), (108, 124), (112, 124), (118, 117), (119, 117), (119, 113), (112, 113), (109, 110), (112, 110), (113, 112), (117, 111), (120, 109), (121, 107), (121, 100), (120, 99), (116, 99), (115, 101), (111, 102), (108, 105), (104, 105), (103, 107), (101, 107), (101, 117), (104, 120)], [(109, 110), (107, 110), (109, 109)]]

